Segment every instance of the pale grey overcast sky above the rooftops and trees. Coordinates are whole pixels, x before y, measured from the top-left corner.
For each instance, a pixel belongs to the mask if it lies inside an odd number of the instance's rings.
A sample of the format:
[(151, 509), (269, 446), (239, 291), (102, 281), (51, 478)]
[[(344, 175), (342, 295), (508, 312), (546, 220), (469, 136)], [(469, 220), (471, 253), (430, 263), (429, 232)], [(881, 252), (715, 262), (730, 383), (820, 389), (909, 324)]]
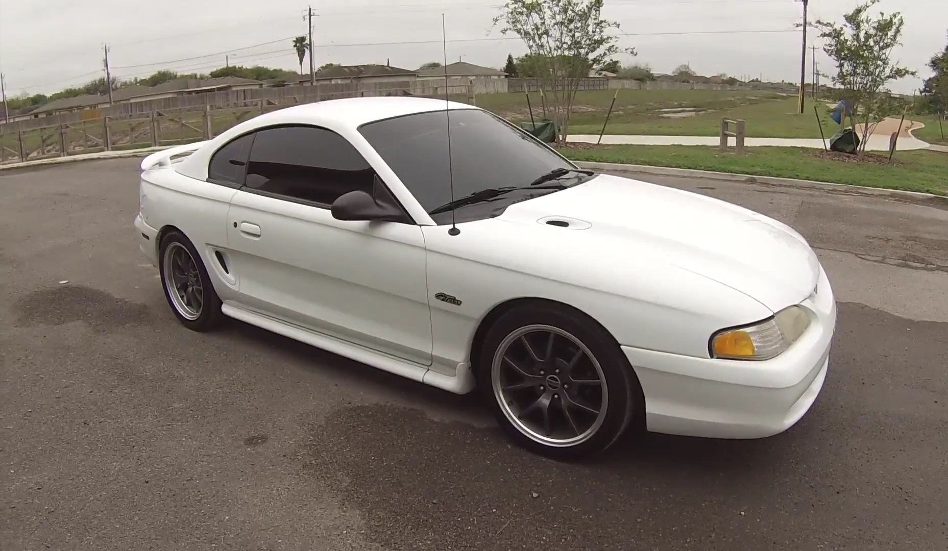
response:
[[(857, 1), (811, 0), (811, 18), (841, 20)], [(448, 61), (460, 57), (500, 68), (507, 53), (526, 51), (519, 39), (491, 29), (501, 4), (320, 0), (314, 4), (319, 15), (314, 19), (316, 62), (390, 60), (409, 69), (440, 62), (444, 12)], [(904, 45), (895, 56), (918, 70), (920, 79), (906, 79), (893, 88), (911, 93), (930, 74), (925, 62), (945, 46), (948, 2), (884, 0), (880, 7), (902, 11), (905, 17)], [(305, 10), (302, 0), (164, 0), (147, 5), (127, 0), (0, 0), (0, 71), (6, 74), (9, 96), (55, 92), (101, 76), (105, 43), (110, 45), (113, 74), (122, 79), (162, 68), (207, 72), (223, 66), (228, 54), (231, 64), (299, 70), (291, 38), (306, 32)], [(621, 25), (618, 32), (630, 34), (622, 36), (619, 45), (634, 46), (639, 52), (635, 61), (655, 72), (670, 73), (686, 62), (702, 75), (762, 75), (764, 80), (788, 81), (799, 78), (801, 37), (793, 24), (801, 15), (802, 4), (794, 0), (606, 0), (605, 9), (605, 16)], [(699, 34), (708, 31), (719, 33)], [(631, 61), (629, 56), (620, 59)], [(819, 50), (817, 61), (821, 70), (832, 71)]]

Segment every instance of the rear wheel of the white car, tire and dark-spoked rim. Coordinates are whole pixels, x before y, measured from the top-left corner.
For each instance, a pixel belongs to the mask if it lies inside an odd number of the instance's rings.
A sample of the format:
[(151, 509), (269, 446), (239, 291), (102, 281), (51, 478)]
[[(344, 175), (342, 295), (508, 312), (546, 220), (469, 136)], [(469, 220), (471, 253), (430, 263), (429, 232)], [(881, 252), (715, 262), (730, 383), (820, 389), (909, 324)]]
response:
[(195, 331), (217, 327), (222, 318), (221, 299), (191, 240), (177, 231), (168, 233), (161, 239), (158, 262), (165, 298), (178, 321)]

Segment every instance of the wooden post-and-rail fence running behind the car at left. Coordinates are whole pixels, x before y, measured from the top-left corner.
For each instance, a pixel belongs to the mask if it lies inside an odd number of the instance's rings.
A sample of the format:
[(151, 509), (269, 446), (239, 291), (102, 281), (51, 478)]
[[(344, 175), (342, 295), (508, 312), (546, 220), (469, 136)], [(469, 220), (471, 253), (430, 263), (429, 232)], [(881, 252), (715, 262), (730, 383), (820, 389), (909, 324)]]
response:
[[(288, 86), (286, 88), (289, 88)], [(426, 87), (430, 97), (444, 98), (445, 86)], [(242, 91), (244, 92), (244, 91)], [(472, 103), (469, 87), (449, 86), (449, 98)], [(337, 90), (319, 98), (417, 96), (403, 88)], [(279, 99), (245, 99), (228, 105), (203, 104), (160, 109), (128, 116), (84, 118), (54, 125), (0, 133), (0, 164), (18, 163), (99, 151), (132, 150), (207, 140), (247, 118), (316, 101), (310, 94)], [(5, 125), (7, 126), (7, 125)]]

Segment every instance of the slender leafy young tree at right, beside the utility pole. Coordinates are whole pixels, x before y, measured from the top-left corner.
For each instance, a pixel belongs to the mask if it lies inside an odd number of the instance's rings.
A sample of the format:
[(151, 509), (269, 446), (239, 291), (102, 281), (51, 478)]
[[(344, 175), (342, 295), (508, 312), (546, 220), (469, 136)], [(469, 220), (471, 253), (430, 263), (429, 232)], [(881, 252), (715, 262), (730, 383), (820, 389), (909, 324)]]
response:
[(869, 9), (879, 0), (867, 0), (843, 16), (844, 23), (817, 21), (823, 51), (836, 62), (832, 81), (840, 88), (840, 97), (848, 102), (849, 122), (856, 132), (857, 120), (863, 124), (859, 152), (866, 151), (869, 133), (885, 116), (899, 110), (885, 85), (917, 73), (892, 61), (892, 50), (901, 45), (905, 20), (902, 14), (880, 12), (873, 17)]

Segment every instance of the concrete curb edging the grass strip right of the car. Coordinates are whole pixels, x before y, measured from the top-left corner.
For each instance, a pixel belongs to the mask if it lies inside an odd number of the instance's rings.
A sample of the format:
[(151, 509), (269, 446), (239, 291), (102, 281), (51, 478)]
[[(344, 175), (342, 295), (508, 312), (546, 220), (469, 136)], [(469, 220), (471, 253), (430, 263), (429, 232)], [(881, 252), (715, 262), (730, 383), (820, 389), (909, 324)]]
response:
[(677, 176), (684, 178), (702, 178), (704, 180), (720, 180), (723, 182), (742, 182), (744, 184), (765, 184), (770, 186), (802, 187), (808, 189), (852, 189), (866, 195), (885, 195), (889, 197), (905, 197), (908, 199), (938, 199), (948, 201), (948, 198), (933, 193), (920, 191), (902, 191), (900, 189), (886, 189), (884, 187), (852, 186), (849, 184), (832, 184), (830, 182), (815, 182), (812, 180), (794, 180), (793, 178), (775, 178), (772, 176), (752, 176), (750, 174), (735, 174), (731, 172), (713, 172), (709, 170), (670, 169), (667, 167), (649, 167), (647, 165), (620, 165), (617, 163), (593, 163), (574, 161), (584, 169), (618, 170), (639, 174), (655, 174), (660, 176)]

